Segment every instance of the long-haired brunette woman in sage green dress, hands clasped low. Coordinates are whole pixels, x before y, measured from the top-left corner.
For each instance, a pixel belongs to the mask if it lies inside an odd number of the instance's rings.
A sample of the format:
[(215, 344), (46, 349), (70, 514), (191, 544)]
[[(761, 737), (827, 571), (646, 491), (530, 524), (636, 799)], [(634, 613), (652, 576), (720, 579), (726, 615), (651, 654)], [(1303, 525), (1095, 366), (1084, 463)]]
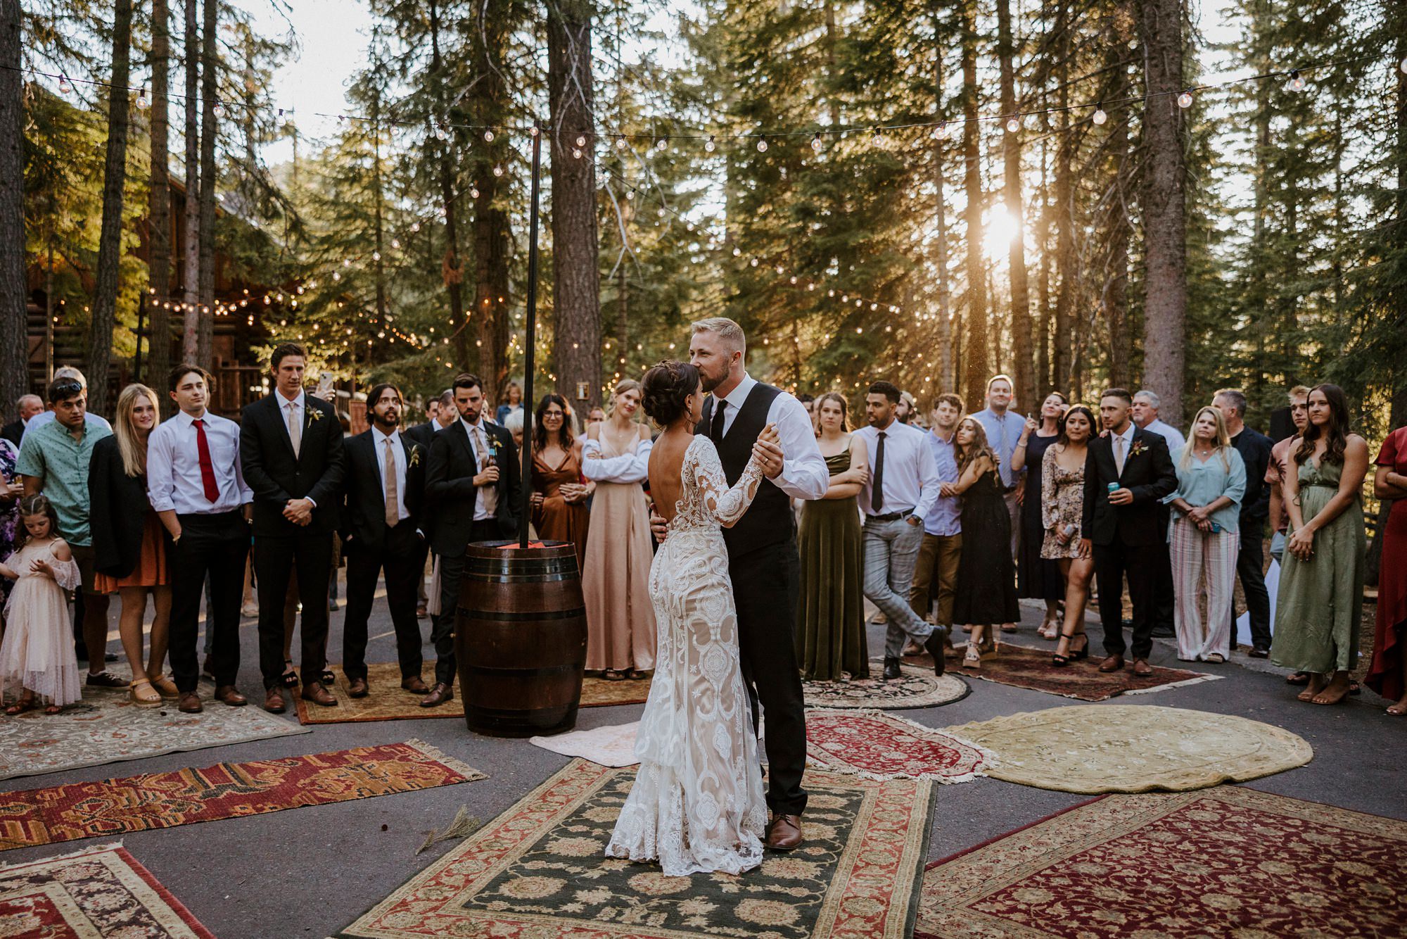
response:
[(1338, 704), (1358, 667), (1363, 607), (1368, 441), (1349, 431), (1337, 384), (1310, 391), (1310, 422), (1283, 480), (1290, 517), (1271, 662), (1309, 673), (1300, 701)]

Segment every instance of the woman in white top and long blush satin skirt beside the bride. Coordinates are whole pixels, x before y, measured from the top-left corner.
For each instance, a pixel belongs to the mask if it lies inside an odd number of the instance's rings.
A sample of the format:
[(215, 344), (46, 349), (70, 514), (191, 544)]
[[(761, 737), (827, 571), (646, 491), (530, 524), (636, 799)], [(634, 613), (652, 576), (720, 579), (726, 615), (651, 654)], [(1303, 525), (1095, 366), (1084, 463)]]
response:
[(650, 428), (640, 422), (640, 383), (619, 382), (605, 421), (587, 427), (581, 473), (591, 480), (591, 524), (581, 593), (587, 603), (587, 672), (643, 679), (654, 669), (650, 603)]

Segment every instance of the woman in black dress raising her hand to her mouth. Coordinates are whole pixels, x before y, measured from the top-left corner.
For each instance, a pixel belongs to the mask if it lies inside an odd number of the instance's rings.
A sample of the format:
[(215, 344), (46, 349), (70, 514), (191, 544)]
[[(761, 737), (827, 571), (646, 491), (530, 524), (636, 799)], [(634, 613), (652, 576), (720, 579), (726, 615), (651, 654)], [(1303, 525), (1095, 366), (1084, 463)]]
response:
[(1026, 418), (1026, 428), (1012, 452), (1012, 472), (1026, 470), (1026, 496), (1021, 498), (1021, 548), (1016, 555), (1016, 595), (1045, 601), (1041, 638), (1054, 639), (1062, 619), (1061, 601), (1065, 580), (1059, 565), (1041, 557), (1045, 525), (1041, 524), (1041, 460), (1045, 448), (1059, 438), (1059, 420), (1069, 401), (1059, 391), (1051, 391), (1041, 404), (1038, 418)]

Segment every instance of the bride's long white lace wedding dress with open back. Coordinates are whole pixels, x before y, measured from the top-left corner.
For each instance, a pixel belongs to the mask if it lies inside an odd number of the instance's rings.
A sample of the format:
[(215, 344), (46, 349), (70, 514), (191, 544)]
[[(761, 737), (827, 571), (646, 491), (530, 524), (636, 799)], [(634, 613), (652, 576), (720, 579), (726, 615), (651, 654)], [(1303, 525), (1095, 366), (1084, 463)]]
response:
[(684, 494), (650, 569), (660, 639), (640, 769), (606, 855), (658, 859), (670, 877), (739, 874), (763, 863), (767, 802), (719, 525), (743, 517), (763, 473), (753, 459), (729, 489), (713, 442), (695, 436), (680, 476)]

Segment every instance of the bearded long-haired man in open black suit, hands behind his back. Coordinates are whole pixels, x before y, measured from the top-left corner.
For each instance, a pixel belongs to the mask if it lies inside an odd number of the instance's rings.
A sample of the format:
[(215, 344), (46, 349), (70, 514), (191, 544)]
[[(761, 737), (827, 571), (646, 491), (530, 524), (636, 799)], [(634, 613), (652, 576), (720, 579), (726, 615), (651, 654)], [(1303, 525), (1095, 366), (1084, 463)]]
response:
[(366, 397), (371, 428), (343, 445), (346, 504), (342, 555), (348, 559), (348, 614), (342, 625), (342, 673), (353, 698), (370, 690), (366, 677), (366, 621), (376, 580), (386, 572), (386, 604), (395, 626), (401, 687), (426, 694), (421, 679), (421, 628), (415, 622), (415, 580), (424, 570), (421, 510), (429, 450), (400, 432), (401, 390), (377, 384)]

